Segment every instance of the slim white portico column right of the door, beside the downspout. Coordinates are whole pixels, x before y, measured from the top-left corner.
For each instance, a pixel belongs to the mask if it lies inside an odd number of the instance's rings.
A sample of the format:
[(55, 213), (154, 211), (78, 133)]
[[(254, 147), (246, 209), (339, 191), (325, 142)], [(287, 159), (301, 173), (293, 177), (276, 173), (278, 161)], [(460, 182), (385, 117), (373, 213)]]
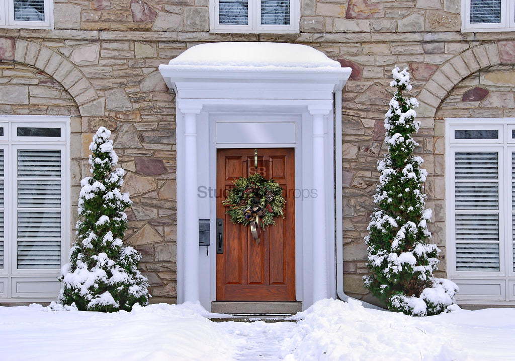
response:
[(317, 197), (313, 199), (313, 302), (328, 297), (327, 284), (327, 240), (325, 215), (325, 146), (324, 117), (327, 108), (308, 107), (313, 116), (313, 188)]

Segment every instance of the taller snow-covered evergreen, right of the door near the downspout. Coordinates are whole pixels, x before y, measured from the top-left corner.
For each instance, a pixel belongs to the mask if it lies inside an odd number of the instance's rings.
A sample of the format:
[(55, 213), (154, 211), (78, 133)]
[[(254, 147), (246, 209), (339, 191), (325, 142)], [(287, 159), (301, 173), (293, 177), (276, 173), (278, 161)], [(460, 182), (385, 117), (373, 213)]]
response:
[(391, 310), (436, 315), (457, 307), (453, 305), (458, 287), (433, 276), (440, 250), (427, 243), (432, 215), (431, 209), (425, 209), (427, 172), (420, 168), (423, 159), (412, 155), (418, 145), (411, 134), (419, 130), (414, 110), (419, 104), (415, 98), (403, 98), (403, 91), (411, 90), (407, 69), (396, 67), (392, 73), (390, 86), (397, 91), (385, 114), (388, 153), (377, 162), (381, 176), (374, 203), (378, 208), (365, 237), (372, 274), (364, 277), (365, 287)]

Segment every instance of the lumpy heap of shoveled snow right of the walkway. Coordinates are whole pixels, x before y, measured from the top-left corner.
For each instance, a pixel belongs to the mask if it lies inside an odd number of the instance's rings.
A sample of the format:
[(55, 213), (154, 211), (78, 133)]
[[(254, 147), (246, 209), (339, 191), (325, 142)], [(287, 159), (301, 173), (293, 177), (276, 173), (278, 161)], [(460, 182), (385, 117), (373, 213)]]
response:
[(440, 324), (425, 321), (429, 318), (366, 309), (352, 299), (321, 300), (295, 317), (298, 329), (282, 344), (286, 361), (467, 359)]

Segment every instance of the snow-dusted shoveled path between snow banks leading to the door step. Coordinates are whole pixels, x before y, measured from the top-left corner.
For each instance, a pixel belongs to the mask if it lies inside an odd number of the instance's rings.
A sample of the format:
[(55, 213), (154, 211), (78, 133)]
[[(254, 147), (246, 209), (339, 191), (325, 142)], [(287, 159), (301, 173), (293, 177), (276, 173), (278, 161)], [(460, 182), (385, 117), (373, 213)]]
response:
[(281, 343), (297, 327), (296, 322), (234, 322), (220, 323), (222, 329), (241, 341), (236, 360), (281, 360)]

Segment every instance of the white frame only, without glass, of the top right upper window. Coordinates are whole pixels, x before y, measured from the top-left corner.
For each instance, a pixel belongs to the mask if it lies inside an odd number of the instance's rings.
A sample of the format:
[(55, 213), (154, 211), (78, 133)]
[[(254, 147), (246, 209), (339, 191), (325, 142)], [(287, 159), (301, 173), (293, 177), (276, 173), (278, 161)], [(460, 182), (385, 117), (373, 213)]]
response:
[(471, 23), (470, 0), (461, 0), (461, 32), (515, 31), (515, 0), (501, 0), (500, 23)]

